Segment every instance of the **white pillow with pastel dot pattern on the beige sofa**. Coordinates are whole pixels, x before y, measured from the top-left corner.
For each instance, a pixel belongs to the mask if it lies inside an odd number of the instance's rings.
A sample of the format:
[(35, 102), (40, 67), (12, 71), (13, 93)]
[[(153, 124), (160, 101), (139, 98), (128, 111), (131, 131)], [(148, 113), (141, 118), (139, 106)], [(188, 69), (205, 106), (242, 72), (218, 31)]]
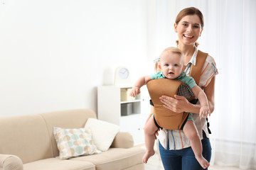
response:
[(92, 132), (88, 128), (63, 129), (53, 127), (53, 134), (60, 152), (60, 159), (99, 154), (92, 141)]

